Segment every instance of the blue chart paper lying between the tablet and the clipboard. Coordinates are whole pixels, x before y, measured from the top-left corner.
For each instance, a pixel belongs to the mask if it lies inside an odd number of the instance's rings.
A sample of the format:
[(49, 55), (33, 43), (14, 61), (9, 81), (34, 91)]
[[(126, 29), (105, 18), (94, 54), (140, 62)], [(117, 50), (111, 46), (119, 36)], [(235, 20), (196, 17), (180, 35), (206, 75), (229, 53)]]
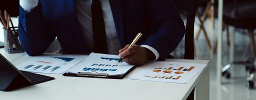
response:
[(42, 55), (19, 64), (17, 68), (30, 72), (60, 74), (85, 58), (86, 56)]

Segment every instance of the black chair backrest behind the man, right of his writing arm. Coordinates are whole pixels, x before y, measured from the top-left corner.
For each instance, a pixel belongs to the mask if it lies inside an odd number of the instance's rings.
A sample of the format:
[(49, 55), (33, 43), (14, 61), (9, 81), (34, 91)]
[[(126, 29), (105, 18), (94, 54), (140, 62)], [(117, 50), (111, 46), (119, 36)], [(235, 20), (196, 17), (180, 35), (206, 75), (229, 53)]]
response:
[(194, 22), (197, 0), (175, 0), (174, 2), (184, 21), (186, 31), (185, 36), (171, 55), (174, 58), (194, 59)]

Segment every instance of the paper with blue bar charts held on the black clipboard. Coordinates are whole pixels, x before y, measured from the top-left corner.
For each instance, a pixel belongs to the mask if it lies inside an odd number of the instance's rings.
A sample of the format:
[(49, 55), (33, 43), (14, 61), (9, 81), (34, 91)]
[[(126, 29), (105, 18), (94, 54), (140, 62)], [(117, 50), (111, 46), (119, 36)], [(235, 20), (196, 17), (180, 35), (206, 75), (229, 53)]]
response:
[(130, 70), (134, 65), (121, 61), (116, 65), (118, 55), (90, 53), (90, 55), (70, 68), (68, 73), (102, 73), (106, 75), (121, 75)]

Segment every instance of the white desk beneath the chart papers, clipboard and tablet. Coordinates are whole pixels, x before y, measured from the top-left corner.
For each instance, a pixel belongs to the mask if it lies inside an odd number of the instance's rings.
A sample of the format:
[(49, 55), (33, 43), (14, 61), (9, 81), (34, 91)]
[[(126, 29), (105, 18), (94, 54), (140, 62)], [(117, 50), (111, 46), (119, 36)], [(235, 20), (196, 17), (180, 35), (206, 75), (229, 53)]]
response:
[[(8, 54), (5, 54), (7, 58)], [(24, 55), (12, 63), (18, 65), (31, 56)], [(207, 64), (208, 60), (167, 59), (168, 61), (193, 62)], [(140, 70), (135, 68), (133, 72)], [(111, 100), (143, 100), (143, 99), (186, 99), (196, 86), (196, 99), (209, 99), (209, 67), (189, 80), (186, 84), (154, 82), (128, 79), (70, 77), (58, 74), (45, 74), (56, 79), (17, 89), (14, 91), (0, 91), (3, 100), (45, 100), (45, 99), (111, 99)]]

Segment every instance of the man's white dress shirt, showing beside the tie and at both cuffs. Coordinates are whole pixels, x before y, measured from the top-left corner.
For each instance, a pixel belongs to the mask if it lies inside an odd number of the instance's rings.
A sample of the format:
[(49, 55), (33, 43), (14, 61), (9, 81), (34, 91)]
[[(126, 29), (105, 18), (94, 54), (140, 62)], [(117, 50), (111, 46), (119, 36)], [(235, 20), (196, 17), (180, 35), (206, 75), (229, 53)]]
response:
[[(20, 5), (26, 10), (31, 11), (34, 7), (38, 5), (39, 0), (20, 0)], [(107, 47), (109, 54), (118, 54), (118, 50), (121, 49), (121, 45), (117, 36), (114, 19), (112, 15), (112, 10), (109, 4), (109, 0), (100, 0), (101, 7), (103, 11)], [(77, 18), (81, 25), (81, 30), (83, 37), (86, 42), (86, 46), (91, 51), (93, 50), (93, 30), (92, 30), (92, 17), (91, 17), (91, 3), (92, 0), (76, 0), (76, 12)], [(141, 45), (150, 49), (156, 56), (156, 59), (159, 58), (159, 52), (149, 46)], [(155, 59), (155, 60), (156, 60)]]

